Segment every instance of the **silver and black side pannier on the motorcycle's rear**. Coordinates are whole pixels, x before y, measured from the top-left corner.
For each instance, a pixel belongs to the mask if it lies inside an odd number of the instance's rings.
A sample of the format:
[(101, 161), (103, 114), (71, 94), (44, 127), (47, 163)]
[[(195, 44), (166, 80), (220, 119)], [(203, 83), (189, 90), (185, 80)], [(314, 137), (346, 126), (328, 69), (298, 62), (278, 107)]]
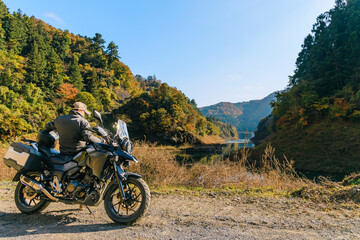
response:
[(42, 155), (35, 148), (22, 144), (12, 143), (4, 156), (4, 163), (8, 167), (25, 171), (41, 171)]

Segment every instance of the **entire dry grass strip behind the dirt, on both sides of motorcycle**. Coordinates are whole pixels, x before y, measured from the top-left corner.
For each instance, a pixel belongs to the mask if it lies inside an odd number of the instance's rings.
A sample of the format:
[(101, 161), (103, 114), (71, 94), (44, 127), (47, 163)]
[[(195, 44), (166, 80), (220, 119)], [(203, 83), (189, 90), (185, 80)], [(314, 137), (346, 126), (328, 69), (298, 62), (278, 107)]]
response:
[[(3, 163), (7, 149), (4, 147), (0, 148), (0, 180), (11, 180), (16, 171)], [(360, 202), (360, 186), (356, 185), (360, 179), (359, 174), (348, 177), (350, 186), (344, 187), (325, 178), (320, 183), (314, 183), (299, 177), (292, 162), (285, 156), (280, 161), (271, 145), (266, 147), (256, 166), (249, 164), (249, 153), (249, 149), (243, 148), (235, 153), (235, 161), (234, 156), (231, 156), (232, 161), (222, 159), (207, 164), (198, 162), (180, 165), (176, 161), (174, 148), (137, 142), (134, 155), (140, 164), (132, 164), (129, 170), (143, 175), (151, 186), (156, 187), (280, 190), (315, 202)]]

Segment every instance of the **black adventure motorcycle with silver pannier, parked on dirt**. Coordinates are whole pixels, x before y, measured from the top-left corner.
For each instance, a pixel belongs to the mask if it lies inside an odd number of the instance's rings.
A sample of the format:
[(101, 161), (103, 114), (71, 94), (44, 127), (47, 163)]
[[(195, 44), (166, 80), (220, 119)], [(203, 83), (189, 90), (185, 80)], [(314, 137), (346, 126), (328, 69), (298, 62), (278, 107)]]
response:
[(21, 212), (38, 213), (51, 202), (82, 204), (91, 212), (88, 206), (103, 200), (115, 223), (132, 224), (144, 216), (151, 195), (141, 175), (125, 170), (130, 162), (138, 163), (131, 155), (126, 123), (118, 120), (114, 135), (103, 127), (99, 112), (93, 111), (93, 116), (102, 127), (90, 130), (105, 143), (88, 144), (73, 157), (53, 149), (56, 139), (45, 131), (37, 141), (22, 139), (26, 144), (10, 145), (4, 163), (18, 171), (14, 198)]

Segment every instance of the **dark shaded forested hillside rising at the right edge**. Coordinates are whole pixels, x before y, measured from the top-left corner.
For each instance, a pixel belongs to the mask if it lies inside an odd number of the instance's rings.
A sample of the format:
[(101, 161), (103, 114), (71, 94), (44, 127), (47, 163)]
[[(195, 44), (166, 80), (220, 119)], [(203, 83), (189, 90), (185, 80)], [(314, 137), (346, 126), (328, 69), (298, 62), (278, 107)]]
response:
[[(337, 0), (276, 95), (268, 141), (307, 170), (360, 170), (360, 1)], [(271, 126), (270, 126), (271, 125)]]

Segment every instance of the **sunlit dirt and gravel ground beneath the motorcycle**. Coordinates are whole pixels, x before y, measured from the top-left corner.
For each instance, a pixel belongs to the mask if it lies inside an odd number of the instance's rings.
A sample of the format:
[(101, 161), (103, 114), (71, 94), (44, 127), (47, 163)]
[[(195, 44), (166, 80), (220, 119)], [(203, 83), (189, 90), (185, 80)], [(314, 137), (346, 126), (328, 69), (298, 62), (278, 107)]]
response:
[(119, 226), (102, 204), (92, 208), (94, 214), (61, 203), (41, 214), (21, 214), (13, 194), (13, 183), (0, 182), (1, 239), (360, 239), (354, 204), (153, 192), (148, 214), (133, 226)]

